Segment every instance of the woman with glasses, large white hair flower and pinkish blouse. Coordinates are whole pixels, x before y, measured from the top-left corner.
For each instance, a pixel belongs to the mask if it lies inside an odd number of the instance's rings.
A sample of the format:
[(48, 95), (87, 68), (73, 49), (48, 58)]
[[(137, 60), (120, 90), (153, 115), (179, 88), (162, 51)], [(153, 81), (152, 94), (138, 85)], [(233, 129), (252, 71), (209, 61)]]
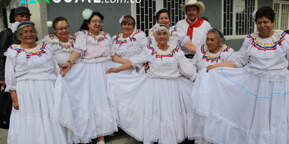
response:
[[(60, 69), (55, 83), (55, 109), (59, 122), (72, 130), (82, 143), (117, 131), (115, 114), (106, 91), (105, 72), (114, 67), (111, 37), (101, 31), (103, 15), (86, 9), (69, 60)], [(81, 56), (81, 62), (73, 65)], [(63, 77), (62, 77), (63, 76)], [(57, 97), (57, 98), (56, 98)], [(70, 143), (78, 143), (72, 141)]]

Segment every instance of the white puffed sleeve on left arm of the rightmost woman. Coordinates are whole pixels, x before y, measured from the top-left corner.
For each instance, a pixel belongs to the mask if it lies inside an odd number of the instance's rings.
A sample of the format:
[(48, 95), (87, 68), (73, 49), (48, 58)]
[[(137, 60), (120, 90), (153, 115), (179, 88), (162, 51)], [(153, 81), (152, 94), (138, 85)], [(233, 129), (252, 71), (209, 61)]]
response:
[(236, 53), (236, 56), (232, 58), (232, 62), (237, 67), (243, 67), (249, 62), (249, 54), (247, 53), (248, 46), (251, 42), (251, 39), (245, 39), (242, 47)]

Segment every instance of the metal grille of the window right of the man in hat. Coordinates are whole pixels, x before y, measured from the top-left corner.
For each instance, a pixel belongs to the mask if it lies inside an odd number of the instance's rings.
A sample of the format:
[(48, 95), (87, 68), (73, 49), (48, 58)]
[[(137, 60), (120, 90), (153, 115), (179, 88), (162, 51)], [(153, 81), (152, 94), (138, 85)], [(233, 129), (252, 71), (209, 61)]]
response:
[(249, 35), (254, 32), (252, 13), (256, 0), (223, 0), (224, 35)]

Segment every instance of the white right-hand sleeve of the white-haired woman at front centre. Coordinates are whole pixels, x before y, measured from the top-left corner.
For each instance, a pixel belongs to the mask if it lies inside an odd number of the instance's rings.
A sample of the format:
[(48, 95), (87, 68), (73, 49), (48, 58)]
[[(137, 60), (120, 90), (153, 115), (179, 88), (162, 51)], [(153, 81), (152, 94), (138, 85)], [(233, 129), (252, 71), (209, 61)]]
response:
[(197, 77), (197, 70), (194, 65), (185, 57), (182, 56), (179, 58), (178, 69), (182, 75), (188, 77), (190, 81), (193, 81)]

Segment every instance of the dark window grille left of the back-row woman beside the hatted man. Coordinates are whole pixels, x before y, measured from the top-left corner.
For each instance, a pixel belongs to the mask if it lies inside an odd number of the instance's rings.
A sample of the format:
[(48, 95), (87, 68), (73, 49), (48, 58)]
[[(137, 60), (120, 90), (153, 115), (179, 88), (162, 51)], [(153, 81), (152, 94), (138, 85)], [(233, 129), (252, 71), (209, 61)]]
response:
[(149, 29), (155, 24), (155, 2), (156, 0), (142, 0), (136, 3), (136, 29), (149, 34)]

